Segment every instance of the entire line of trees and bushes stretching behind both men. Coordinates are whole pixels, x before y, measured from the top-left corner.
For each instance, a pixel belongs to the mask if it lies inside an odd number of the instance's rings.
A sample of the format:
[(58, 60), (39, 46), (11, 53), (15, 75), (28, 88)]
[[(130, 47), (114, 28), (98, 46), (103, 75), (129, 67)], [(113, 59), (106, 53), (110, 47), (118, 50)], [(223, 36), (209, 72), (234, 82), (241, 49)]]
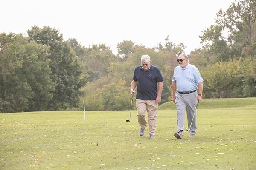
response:
[[(204, 98), (256, 96), (256, 1), (233, 2), (202, 31), (202, 47), (189, 55), (204, 78)], [(58, 29), (33, 26), (22, 34), (0, 34), (0, 113), (23, 111), (129, 110), (134, 68), (148, 54), (160, 68), (162, 101), (171, 101), (173, 70), (183, 43), (167, 36), (154, 48), (131, 40), (85, 47), (64, 41)]]

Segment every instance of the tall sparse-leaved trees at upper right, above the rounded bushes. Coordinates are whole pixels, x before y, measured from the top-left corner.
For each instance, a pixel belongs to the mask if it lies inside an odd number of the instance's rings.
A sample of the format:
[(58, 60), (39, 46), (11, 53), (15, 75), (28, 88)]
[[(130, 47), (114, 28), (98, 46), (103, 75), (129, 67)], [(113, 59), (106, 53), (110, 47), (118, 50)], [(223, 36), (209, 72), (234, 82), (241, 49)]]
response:
[(206, 57), (202, 60), (206, 62), (203, 65), (207, 65), (255, 54), (255, 0), (236, 0), (226, 11), (219, 10), (215, 21), (216, 24), (200, 36), (203, 47), (192, 55), (195, 61)]

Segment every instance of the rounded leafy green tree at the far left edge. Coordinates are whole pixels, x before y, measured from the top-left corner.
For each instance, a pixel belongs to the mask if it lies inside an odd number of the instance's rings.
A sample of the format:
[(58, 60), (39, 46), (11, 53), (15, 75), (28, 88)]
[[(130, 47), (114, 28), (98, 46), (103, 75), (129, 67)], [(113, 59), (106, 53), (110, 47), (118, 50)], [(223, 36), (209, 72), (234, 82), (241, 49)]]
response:
[(46, 110), (55, 83), (49, 48), (21, 34), (0, 34), (0, 112)]

